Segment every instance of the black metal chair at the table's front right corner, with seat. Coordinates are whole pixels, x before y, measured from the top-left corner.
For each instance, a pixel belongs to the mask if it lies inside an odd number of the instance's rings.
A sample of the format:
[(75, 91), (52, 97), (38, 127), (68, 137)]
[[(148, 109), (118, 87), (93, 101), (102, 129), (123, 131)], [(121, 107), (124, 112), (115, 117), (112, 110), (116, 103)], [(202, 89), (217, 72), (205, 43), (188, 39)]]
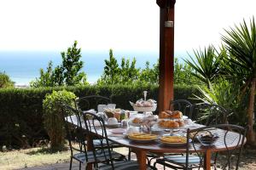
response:
[[(218, 134), (218, 138), (216, 140), (212, 139), (213, 144), (220, 144), (224, 148), (224, 153), (221, 158), (222, 162), (218, 165), (221, 169), (238, 169), (241, 151), (243, 148), (243, 144), (245, 142), (247, 128), (239, 127), (236, 125), (230, 124), (220, 124), (220, 125), (212, 125), (208, 127), (201, 127), (197, 129), (187, 131), (187, 144), (186, 144), (186, 155), (185, 156), (165, 156), (164, 158), (157, 159), (154, 163), (154, 167), (156, 164), (164, 165), (165, 167), (171, 167), (173, 169), (200, 169), (204, 167), (204, 153), (201, 152), (201, 144), (199, 144), (199, 140), (201, 143), (207, 142), (209, 140), (203, 140), (198, 138), (201, 133), (210, 133)], [(235, 135), (235, 133), (237, 135)], [(192, 142), (190, 142), (192, 139)], [(210, 141), (211, 142), (211, 141)], [(232, 144), (230, 149), (229, 145)], [(204, 146), (206, 147), (212, 147)], [(195, 154), (189, 154), (189, 150), (193, 148), (195, 150)], [(234, 162), (232, 164), (231, 162)], [(216, 169), (218, 163), (217, 156), (214, 156), (214, 160), (211, 161), (211, 165)]]

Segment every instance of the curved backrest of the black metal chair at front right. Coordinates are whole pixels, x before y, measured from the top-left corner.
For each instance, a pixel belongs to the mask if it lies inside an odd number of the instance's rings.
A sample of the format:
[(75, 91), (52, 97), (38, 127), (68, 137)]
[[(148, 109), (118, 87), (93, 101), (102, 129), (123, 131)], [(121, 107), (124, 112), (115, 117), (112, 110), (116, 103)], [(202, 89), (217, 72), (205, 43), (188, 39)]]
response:
[[(216, 144), (216, 147), (218, 148), (223, 148), (223, 150), (220, 152), (221, 157), (217, 157), (220, 155), (220, 153), (216, 154), (214, 157), (214, 162), (218, 163), (221, 169), (238, 169), (242, 148), (245, 144), (247, 128), (231, 124), (219, 124), (193, 130), (188, 129), (187, 136), (188, 138), (192, 139), (192, 142), (190, 146), (187, 147), (186, 156), (187, 159), (189, 159), (189, 147), (190, 150), (191, 147), (193, 147), (196, 155), (200, 157), (200, 167), (204, 167), (204, 155), (201, 152), (202, 148), (212, 148), (212, 146), (201, 146), (198, 136), (201, 136), (202, 133), (211, 133), (212, 135), (217, 135), (218, 138), (213, 140), (212, 144)], [(187, 160), (187, 167), (189, 166), (188, 162), (189, 161)]]

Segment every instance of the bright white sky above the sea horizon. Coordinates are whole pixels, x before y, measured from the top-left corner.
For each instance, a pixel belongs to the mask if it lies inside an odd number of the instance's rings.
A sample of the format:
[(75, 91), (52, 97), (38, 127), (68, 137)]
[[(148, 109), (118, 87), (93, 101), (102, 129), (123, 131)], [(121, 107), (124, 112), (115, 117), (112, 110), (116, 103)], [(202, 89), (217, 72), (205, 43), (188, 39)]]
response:
[[(175, 51), (219, 45), (220, 34), (256, 16), (255, 0), (177, 0)], [(109, 48), (158, 51), (156, 0), (0, 0), (0, 51)]]

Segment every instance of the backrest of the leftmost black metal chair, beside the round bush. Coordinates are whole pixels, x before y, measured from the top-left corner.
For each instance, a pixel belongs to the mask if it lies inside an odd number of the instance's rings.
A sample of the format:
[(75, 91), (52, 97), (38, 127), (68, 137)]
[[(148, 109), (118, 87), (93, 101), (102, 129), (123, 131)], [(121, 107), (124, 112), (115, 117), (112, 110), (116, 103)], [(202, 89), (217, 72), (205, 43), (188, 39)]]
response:
[[(83, 152), (85, 159), (88, 161), (86, 152), (86, 133), (80, 119), (80, 112), (69, 105), (61, 105), (61, 116), (67, 133), (68, 144), (73, 156), (73, 151)], [(77, 143), (74, 145), (74, 143)]]

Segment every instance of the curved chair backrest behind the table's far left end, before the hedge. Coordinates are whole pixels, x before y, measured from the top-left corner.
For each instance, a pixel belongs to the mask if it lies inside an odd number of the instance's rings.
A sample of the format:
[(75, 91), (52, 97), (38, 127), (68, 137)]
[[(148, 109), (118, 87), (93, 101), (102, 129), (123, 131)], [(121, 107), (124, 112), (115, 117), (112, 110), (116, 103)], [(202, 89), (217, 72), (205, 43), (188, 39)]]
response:
[(107, 105), (112, 103), (111, 99), (101, 95), (90, 95), (75, 100), (76, 109), (80, 111), (88, 111), (95, 109), (97, 111), (97, 105)]

